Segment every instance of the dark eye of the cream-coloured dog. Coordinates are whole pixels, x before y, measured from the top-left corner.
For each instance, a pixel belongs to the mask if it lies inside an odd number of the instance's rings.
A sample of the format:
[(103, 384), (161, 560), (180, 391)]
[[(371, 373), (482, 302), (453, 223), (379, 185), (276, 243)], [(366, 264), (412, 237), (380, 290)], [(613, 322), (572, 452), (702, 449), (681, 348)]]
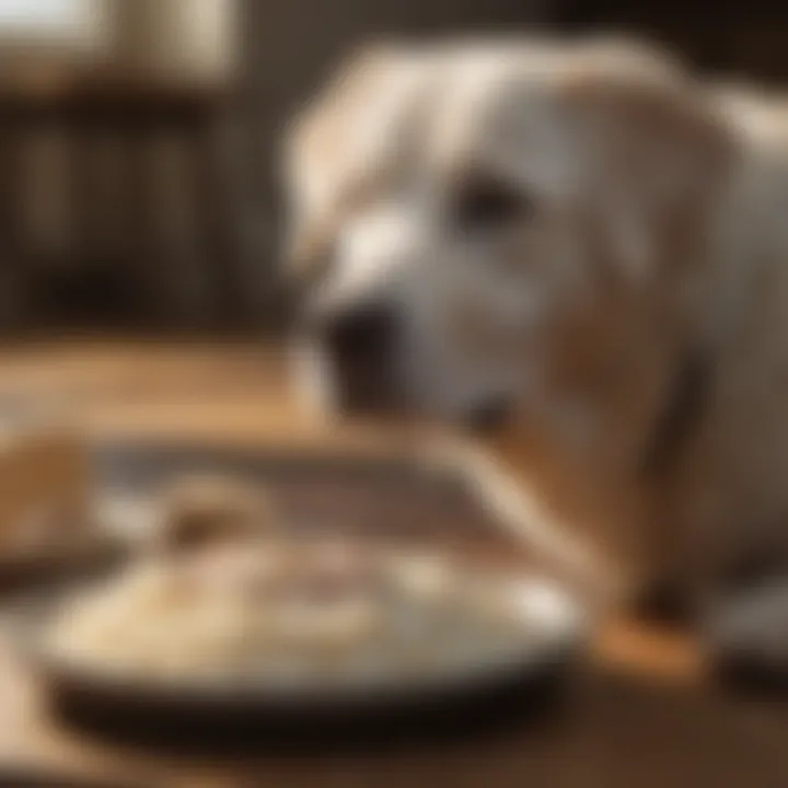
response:
[(474, 232), (505, 228), (525, 217), (530, 208), (528, 195), (518, 186), (495, 177), (473, 177), (460, 186), (453, 213), (459, 228)]

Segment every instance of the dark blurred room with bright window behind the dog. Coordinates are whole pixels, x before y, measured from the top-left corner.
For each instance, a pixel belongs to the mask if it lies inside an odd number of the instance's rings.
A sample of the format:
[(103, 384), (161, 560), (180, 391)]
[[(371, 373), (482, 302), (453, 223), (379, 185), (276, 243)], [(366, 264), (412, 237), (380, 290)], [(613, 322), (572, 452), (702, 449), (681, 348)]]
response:
[(779, 81), (777, 5), (0, 0), (0, 327), (276, 328), (283, 120), (376, 34), (623, 28)]

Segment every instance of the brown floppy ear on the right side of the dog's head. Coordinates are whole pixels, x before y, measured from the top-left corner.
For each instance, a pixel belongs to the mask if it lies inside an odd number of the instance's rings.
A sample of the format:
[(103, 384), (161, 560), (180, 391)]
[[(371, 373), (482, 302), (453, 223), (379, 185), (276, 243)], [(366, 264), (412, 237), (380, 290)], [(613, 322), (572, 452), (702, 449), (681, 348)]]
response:
[(682, 265), (730, 172), (732, 130), (690, 76), (653, 53), (589, 56), (561, 92), (589, 131), (593, 205), (622, 267), (648, 277)]

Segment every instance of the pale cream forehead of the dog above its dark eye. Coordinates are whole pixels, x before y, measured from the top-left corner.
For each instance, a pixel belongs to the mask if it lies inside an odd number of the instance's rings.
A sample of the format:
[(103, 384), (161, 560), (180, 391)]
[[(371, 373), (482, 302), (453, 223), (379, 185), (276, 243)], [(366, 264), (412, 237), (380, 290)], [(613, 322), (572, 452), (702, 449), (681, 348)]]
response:
[(346, 105), (340, 144), (313, 178), (326, 201), (361, 182), (380, 194), (408, 173), (440, 178), (475, 166), (545, 190), (566, 185), (572, 141), (556, 102), (558, 61), (489, 48), (399, 53), (385, 66)]

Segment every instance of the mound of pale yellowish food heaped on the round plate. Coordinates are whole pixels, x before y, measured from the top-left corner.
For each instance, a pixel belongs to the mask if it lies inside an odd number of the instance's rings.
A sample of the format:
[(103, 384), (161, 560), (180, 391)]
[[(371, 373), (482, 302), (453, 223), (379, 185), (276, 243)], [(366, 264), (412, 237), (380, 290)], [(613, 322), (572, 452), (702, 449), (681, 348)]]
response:
[[(55, 653), (127, 680), (321, 690), (508, 664), (544, 633), (524, 586), (339, 542), (160, 555), (68, 600)], [(538, 625), (538, 626), (532, 626)]]

